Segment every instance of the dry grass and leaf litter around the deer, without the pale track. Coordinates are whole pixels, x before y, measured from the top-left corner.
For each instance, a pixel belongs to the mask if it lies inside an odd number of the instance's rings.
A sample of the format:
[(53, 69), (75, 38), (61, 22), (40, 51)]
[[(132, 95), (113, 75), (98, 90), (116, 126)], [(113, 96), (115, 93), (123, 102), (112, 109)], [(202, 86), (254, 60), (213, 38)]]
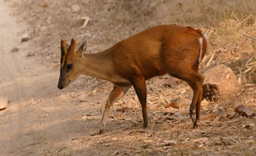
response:
[[(171, 113), (164, 116), (162, 113), (169, 102), (181, 102), (180, 96), (188, 97), (191, 94), (189, 87), (183, 82), (178, 87), (163, 87), (158, 82), (166, 77), (151, 79), (147, 82), (151, 122), (148, 129), (140, 129), (141, 123), (137, 123), (142, 120), (142, 116), (132, 90), (114, 105), (110, 114), (112, 120), (106, 128), (111, 131), (118, 128), (124, 130), (117, 133), (107, 131), (102, 137), (96, 135), (78, 138), (73, 140), (74, 146), (81, 146), (92, 155), (100, 155), (102, 151), (105, 151), (105, 155), (110, 155), (115, 150), (121, 154), (128, 151), (130, 155), (255, 154), (255, 126), (250, 126), (251, 123), (255, 124), (255, 118), (244, 118), (233, 113), (235, 106), (239, 104), (255, 109), (256, 43), (243, 35), (247, 33), (256, 37), (255, 0), (13, 0), (9, 4), (16, 8), (16, 14), (22, 20), (31, 25), (28, 31), (36, 45), (37, 55), (44, 58), (38, 60), (55, 70), (59, 66), (61, 38), (69, 40), (75, 37), (80, 41), (87, 39), (88, 52), (99, 52), (145, 28), (177, 23), (203, 28), (208, 32), (211, 46), (201, 65), (201, 72), (225, 64), (240, 79), (241, 91), (238, 94), (221, 99), (218, 103), (202, 106), (203, 114), (221, 109), (225, 115), (203, 121), (203, 126), (197, 130), (191, 128), (188, 104), (184, 104), (181, 109), (172, 110), (174, 115)], [(73, 11), (74, 5), (78, 5), (80, 10)], [(81, 18), (85, 16), (89, 16), (90, 21), (85, 28), (81, 28), (84, 22)], [(211, 55), (213, 60), (206, 67)], [(88, 98), (100, 99), (101, 96), (95, 93), (107, 96), (110, 91), (111, 84), (108, 82), (90, 77), (81, 79), (80, 82), (85, 83), (74, 84), (70, 89), (73, 94), (80, 95), (85, 90)], [(96, 82), (104, 85), (98, 86)], [(104, 103), (95, 107), (103, 108)], [(129, 111), (122, 111), (122, 108)], [(100, 119), (100, 116), (95, 115), (95, 118)], [(89, 125), (90, 121), (92, 119), (85, 120)]]

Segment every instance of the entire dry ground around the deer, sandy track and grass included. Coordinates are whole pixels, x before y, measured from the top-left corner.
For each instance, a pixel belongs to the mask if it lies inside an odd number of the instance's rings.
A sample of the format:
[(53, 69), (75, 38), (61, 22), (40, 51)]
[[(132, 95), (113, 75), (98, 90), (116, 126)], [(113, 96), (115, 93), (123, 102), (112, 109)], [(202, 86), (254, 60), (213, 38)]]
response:
[[(244, 35), (256, 37), (255, 12), (255, 0), (0, 0), (0, 96), (10, 101), (0, 111), (0, 155), (255, 155), (255, 117), (234, 112), (240, 104), (256, 112), (256, 43)], [(203, 28), (210, 48), (200, 72), (227, 65), (240, 91), (205, 101), (202, 116), (222, 115), (193, 129), (186, 82), (164, 85), (168, 75), (155, 77), (146, 82), (148, 128), (132, 88), (112, 106), (104, 133), (95, 135), (112, 84), (80, 76), (58, 90), (60, 40), (87, 40), (87, 52), (100, 52), (165, 23)], [(21, 42), (23, 34), (28, 41)], [(179, 108), (166, 108), (171, 102)]]

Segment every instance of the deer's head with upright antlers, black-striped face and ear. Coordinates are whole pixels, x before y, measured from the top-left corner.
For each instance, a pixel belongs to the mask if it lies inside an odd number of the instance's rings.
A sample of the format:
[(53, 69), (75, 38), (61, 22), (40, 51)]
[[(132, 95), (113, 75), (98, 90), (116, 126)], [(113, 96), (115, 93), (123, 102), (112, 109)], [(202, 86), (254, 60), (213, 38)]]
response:
[(72, 38), (70, 46), (66, 40), (60, 41), (60, 79), (58, 89), (63, 89), (73, 82), (80, 74), (77, 59), (82, 57), (82, 52), (86, 50), (86, 41), (75, 51), (76, 40)]

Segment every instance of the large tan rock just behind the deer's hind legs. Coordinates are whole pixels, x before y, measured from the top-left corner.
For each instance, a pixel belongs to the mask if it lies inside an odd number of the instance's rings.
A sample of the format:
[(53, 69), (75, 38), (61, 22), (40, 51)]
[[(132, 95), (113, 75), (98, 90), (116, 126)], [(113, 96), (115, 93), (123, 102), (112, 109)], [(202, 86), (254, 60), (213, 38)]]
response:
[(203, 74), (205, 77), (204, 84), (210, 84), (210, 86), (216, 90), (221, 96), (229, 96), (230, 94), (235, 94), (240, 90), (238, 80), (235, 79), (235, 74), (225, 65), (218, 65), (209, 69)]

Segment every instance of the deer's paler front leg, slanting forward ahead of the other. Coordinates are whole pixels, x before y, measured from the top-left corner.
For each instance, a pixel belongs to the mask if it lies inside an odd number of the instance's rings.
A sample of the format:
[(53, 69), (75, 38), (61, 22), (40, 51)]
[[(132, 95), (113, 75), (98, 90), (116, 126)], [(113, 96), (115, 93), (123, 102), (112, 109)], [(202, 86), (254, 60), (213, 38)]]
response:
[(100, 132), (99, 134), (102, 134), (103, 128), (107, 122), (107, 116), (110, 112), (111, 106), (114, 104), (114, 102), (118, 101), (124, 94), (127, 92), (127, 90), (131, 87), (132, 85), (124, 86), (124, 87), (117, 87), (114, 86), (113, 90), (110, 93), (110, 96), (107, 99), (106, 102), (106, 107), (105, 111), (102, 116), (102, 120), (100, 122)]

